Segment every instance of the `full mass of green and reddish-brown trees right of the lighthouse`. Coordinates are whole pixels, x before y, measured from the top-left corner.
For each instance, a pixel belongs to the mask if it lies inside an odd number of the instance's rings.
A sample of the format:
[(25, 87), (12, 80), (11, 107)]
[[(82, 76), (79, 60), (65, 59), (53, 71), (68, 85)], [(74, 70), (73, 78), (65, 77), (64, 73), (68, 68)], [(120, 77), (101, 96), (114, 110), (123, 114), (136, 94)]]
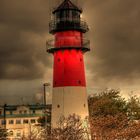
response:
[(90, 97), (92, 139), (133, 140), (140, 138), (140, 119), (130, 119), (133, 112), (136, 110), (139, 112), (138, 106), (139, 102), (136, 102), (134, 98), (126, 102), (118, 90), (106, 90)]

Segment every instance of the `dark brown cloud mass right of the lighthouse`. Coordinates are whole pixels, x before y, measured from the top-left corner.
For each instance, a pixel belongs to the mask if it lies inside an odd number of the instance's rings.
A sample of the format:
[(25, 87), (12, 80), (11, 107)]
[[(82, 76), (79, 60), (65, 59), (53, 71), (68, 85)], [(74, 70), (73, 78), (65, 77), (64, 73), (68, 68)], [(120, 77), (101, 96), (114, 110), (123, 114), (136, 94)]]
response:
[(93, 61), (88, 68), (95, 72), (93, 80), (104, 79), (106, 85), (114, 79), (118, 83), (139, 79), (140, 1), (95, 0), (85, 4), (89, 7), (85, 12), (92, 29), (93, 55), (89, 61)]

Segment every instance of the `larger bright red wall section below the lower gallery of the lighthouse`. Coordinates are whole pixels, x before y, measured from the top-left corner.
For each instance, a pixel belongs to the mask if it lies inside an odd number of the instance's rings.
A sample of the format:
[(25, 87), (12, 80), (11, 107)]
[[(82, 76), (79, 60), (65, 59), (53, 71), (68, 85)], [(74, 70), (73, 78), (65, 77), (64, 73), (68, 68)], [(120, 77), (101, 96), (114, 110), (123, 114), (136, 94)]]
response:
[(54, 53), (53, 86), (86, 86), (84, 60), (81, 51), (65, 50)]

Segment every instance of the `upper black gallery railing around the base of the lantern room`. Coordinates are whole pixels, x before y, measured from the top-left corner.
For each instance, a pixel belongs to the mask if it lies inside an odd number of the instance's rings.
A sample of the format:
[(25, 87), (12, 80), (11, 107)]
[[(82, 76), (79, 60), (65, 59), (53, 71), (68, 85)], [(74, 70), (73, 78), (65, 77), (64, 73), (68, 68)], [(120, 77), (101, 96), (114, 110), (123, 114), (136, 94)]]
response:
[(78, 30), (83, 33), (89, 30), (88, 25), (85, 21), (82, 20), (52, 20), (49, 23), (49, 32), (54, 34), (58, 31), (65, 31), (65, 30)]

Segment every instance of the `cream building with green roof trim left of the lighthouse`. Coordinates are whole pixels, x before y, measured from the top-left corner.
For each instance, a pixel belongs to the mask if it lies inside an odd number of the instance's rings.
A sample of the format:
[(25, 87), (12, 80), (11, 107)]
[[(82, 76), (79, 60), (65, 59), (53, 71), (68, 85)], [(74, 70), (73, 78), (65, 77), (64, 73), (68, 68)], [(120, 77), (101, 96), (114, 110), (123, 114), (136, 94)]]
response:
[[(51, 105), (4, 105), (0, 106), (0, 127), (6, 129), (9, 140), (30, 135), (39, 118), (49, 118)], [(46, 121), (50, 125), (50, 119)]]

